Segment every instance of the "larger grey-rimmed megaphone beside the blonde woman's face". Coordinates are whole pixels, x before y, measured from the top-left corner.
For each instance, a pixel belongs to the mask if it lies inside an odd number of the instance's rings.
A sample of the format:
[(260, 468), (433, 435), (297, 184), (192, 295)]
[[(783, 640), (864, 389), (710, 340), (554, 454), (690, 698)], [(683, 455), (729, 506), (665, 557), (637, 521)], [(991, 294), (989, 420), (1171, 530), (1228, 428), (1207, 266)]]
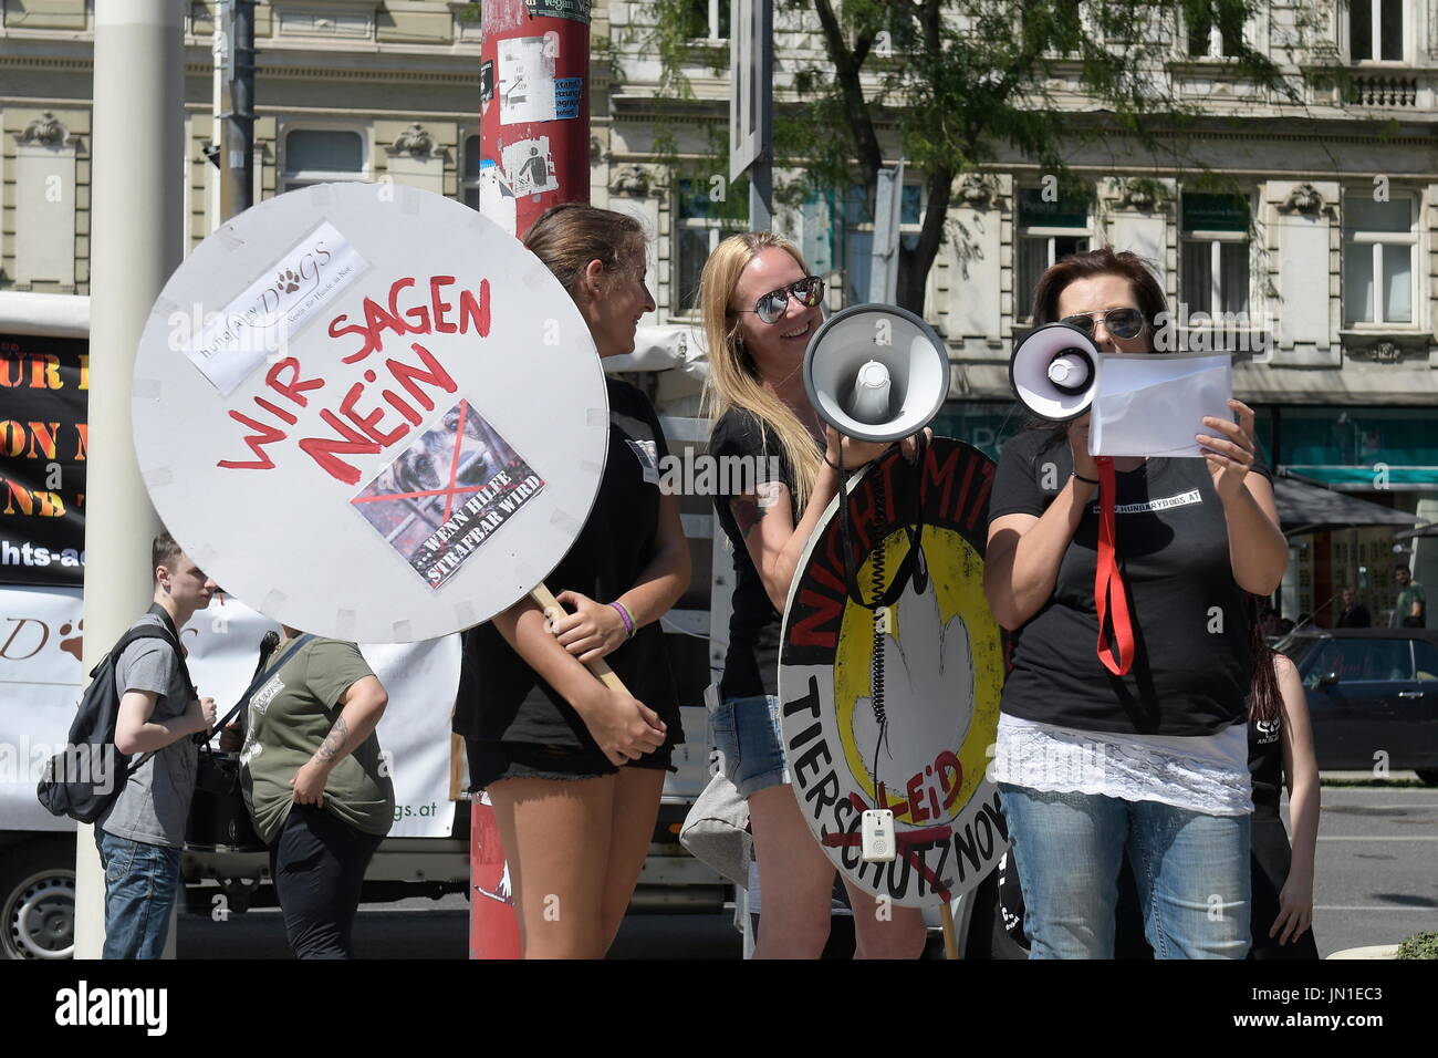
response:
[(949, 396), (949, 353), (929, 324), (896, 305), (851, 305), (815, 331), (804, 389), (820, 417), (858, 440), (917, 433)]

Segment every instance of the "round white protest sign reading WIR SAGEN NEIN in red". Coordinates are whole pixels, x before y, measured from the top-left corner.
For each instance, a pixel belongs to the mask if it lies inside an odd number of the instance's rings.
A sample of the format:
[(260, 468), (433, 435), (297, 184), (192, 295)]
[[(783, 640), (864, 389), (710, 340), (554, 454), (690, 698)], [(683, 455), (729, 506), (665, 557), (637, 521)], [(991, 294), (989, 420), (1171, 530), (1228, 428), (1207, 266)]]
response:
[(135, 452), (165, 527), (293, 628), (414, 642), (541, 583), (588, 517), (608, 400), (569, 295), (437, 194), (318, 184), (170, 276)]

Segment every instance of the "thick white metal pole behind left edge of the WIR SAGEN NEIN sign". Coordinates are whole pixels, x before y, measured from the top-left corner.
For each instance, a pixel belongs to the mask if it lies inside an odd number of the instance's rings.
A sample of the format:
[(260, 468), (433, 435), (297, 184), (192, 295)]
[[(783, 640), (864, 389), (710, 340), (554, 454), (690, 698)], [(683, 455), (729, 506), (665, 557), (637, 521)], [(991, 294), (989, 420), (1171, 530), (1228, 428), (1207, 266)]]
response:
[[(129, 379), (145, 317), (181, 255), (183, 12), (174, 0), (95, 3), (86, 671), (152, 593), (160, 520), (135, 464)], [(79, 828), (75, 868), (75, 954), (98, 959), (105, 878), (89, 826)]]

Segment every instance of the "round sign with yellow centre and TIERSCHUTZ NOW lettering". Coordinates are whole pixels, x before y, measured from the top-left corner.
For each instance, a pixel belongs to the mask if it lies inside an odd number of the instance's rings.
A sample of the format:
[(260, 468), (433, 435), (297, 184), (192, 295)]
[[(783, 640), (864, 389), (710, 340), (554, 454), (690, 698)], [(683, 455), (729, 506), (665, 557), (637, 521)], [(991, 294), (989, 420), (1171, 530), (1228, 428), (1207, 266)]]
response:
[[(936, 439), (917, 466), (890, 452), (848, 492), (850, 597), (837, 501), (810, 538), (784, 615), (784, 754), (834, 867), (903, 907), (939, 905), (1008, 848), (988, 782), (1004, 651), (984, 597), (994, 464)], [(894, 816), (896, 855), (866, 861), (861, 818)]]

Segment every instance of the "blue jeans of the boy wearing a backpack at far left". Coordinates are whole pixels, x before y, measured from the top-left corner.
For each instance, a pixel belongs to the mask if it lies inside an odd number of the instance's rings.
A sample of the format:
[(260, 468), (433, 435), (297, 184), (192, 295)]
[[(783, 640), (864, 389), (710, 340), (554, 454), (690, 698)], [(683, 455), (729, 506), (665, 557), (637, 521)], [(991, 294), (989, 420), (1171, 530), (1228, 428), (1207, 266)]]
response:
[(180, 884), (180, 849), (147, 845), (95, 828), (105, 867), (102, 959), (160, 959)]

